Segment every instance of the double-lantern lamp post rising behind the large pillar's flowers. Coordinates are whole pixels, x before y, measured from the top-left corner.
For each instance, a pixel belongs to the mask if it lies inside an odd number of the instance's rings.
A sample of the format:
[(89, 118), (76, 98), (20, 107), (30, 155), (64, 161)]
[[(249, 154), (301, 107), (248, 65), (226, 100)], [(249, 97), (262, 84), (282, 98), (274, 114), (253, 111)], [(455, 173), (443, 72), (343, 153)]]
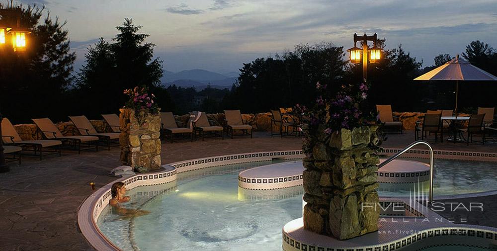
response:
[[(372, 36), (368, 36), (366, 33), (363, 36), (357, 36), (354, 33), (354, 47), (347, 50), (350, 53), (350, 62), (355, 64), (361, 62), (362, 54), (362, 79), (364, 82), (368, 79), (368, 58), (369, 64), (377, 63), (381, 58), (381, 49), (376, 46), (377, 39), (376, 33)], [(357, 48), (358, 41), (362, 42), (362, 49)], [(373, 47), (368, 48), (368, 41), (373, 41)]]

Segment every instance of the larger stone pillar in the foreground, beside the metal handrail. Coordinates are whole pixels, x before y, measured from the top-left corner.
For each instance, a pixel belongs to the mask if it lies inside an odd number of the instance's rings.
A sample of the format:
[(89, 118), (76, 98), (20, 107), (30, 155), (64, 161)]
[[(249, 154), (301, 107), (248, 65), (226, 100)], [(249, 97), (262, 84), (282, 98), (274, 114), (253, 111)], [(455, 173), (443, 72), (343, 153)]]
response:
[(304, 228), (339, 240), (377, 231), (378, 127), (324, 129), (304, 141)]

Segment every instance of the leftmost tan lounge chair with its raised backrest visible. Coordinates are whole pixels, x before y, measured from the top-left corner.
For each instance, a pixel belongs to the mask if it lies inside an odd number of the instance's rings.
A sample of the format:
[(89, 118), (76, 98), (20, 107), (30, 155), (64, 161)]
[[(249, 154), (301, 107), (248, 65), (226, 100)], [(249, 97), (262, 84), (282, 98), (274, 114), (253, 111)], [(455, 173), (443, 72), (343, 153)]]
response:
[(22, 140), (12, 123), (7, 118), (1, 121), (2, 142), (6, 145), (21, 147), (24, 151), (31, 151), (33, 155), (40, 154), (40, 160), (43, 156), (51, 154), (62, 155), (62, 142), (59, 140)]

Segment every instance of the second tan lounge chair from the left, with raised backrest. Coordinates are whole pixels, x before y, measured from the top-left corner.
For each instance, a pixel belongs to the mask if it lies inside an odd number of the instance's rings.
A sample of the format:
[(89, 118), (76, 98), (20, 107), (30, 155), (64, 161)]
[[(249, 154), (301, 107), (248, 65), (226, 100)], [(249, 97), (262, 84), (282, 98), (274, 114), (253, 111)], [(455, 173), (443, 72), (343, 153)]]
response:
[[(49, 118), (31, 120), (40, 128), (40, 131), (45, 138), (49, 140), (60, 140), (63, 144), (66, 143), (66, 145), (78, 149), (78, 154), (81, 154), (81, 150), (95, 149), (95, 151), (98, 151), (98, 137), (96, 136), (64, 136)], [(84, 145), (84, 148), (82, 148), (82, 144)]]

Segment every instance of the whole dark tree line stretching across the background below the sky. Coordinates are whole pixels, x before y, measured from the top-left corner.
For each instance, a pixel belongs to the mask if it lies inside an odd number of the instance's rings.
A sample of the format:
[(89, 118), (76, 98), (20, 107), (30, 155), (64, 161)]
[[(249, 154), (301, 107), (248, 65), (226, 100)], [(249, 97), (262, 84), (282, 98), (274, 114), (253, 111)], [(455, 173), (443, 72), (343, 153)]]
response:
[[(300, 44), (282, 55), (245, 63), (231, 89), (165, 87), (161, 85), (163, 62), (154, 57), (155, 45), (147, 43), (149, 35), (140, 33), (141, 26), (127, 18), (116, 27), (118, 34), (113, 39), (100, 38), (88, 48), (84, 66), (74, 73), (76, 55), (70, 51), (66, 22), (50, 14), (42, 18), (44, 7), (0, 7), (20, 8), (21, 26), (32, 31), (25, 52), (5, 50), (0, 57), (0, 111), (14, 123), (37, 117), (60, 121), (68, 115), (98, 118), (102, 113), (118, 113), (125, 100), (123, 90), (137, 85), (151, 88), (162, 111), (183, 114), (241, 109), (255, 113), (312, 103), (317, 82), (332, 86), (332, 91), (342, 84), (360, 83), (362, 78), (362, 63), (349, 63), (343, 47), (322, 42)], [(2, 16), (5, 18), (14, 17)], [(453, 106), (454, 84), (413, 81), (450, 60), (451, 55), (440, 54), (434, 58), (435, 65), (421, 69), (422, 61), (401, 45), (387, 49), (385, 39), (377, 45), (384, 53), (368, 71), (371, 107), (392, 104), (398, 111), (423, 111)], [(462, 57), (497, 75), (497, 52), (490, 45), (473, 41)], [(460, 88), (465, 97), (459, 99), (463, 107), (496, 105), (496, 84), (460, 84)]]

